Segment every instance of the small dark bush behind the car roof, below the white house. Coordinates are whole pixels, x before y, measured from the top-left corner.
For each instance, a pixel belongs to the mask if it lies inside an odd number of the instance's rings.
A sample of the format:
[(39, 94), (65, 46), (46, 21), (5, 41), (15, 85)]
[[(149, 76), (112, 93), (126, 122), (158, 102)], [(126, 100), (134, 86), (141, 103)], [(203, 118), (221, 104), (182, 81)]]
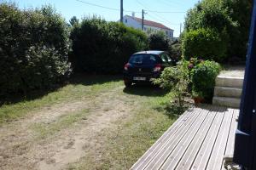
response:
[(149, 49), (166, 51), (169, 48), (169, 40), (162, 31), (158, 31), (149, 36)]

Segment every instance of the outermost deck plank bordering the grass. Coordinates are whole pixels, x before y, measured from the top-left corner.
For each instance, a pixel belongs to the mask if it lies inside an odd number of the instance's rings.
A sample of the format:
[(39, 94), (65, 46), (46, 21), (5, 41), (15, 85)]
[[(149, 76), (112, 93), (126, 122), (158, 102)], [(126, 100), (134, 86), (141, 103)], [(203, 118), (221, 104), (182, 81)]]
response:
[(132, 170), (143, 169), (149, 161), (160, 151), (160, 148), (163, 144), (167, 142), (168, 139), (172, 138), (172, 136), (177, 132), (177, 130), (183, 126), (183, 124), (191, 118), (191, 116), (195, 116), (193, 113), (198, 109), (189, 108), (188, 111), (185, 111), (182, 116), (180, 116), (176, 122), (172, 124), (171, 127), (164, 133), (160, 139), (158, 139), (150, 148), (147, 150), (144, 155), (131, 167)]

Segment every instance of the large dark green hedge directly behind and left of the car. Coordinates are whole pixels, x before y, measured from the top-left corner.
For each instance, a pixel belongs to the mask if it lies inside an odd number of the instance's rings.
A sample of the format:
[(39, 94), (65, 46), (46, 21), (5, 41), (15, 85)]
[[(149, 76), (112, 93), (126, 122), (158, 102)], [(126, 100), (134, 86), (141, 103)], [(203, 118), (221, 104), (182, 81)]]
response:
[(71, 39), (76, 71), (120, 73), (131, 54), (148, 48), (143, 31), (95, 16), (74, 26)]

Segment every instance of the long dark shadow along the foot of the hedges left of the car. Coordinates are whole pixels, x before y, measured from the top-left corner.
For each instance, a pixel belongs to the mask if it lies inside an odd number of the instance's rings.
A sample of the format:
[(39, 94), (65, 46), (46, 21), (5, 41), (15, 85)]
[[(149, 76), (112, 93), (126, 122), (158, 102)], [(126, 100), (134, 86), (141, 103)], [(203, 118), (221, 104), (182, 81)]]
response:
[(75, 74), (70, 77), (67, 82), (57, 84), (47, 89), (35, 89), (26, 95), (23, 93), (9, 94), (5, 96), (0, 96), (0, 106), (13, 105), (19, 103), (20, 101), (30, 101), (34, 99), (43, 98), (45, 95), (55, 92), (60, 88), (63, 88), (67, 84), (82, 84), (84, 86), (90, 86), (94, 84), (103, 84), (106, 82), (118, 82), (122, 80), (122, 76), (111, 76), (111, 75), (88, 75), (88, 74)]

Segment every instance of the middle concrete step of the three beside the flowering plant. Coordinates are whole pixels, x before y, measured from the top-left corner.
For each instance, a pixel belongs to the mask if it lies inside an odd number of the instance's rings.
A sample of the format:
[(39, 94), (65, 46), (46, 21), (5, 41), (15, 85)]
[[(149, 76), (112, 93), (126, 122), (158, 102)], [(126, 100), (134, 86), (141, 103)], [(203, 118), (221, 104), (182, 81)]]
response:
[(217, 86), (214, 88), (214, 96), (241, 98), (241, 88), (218, 87)]

